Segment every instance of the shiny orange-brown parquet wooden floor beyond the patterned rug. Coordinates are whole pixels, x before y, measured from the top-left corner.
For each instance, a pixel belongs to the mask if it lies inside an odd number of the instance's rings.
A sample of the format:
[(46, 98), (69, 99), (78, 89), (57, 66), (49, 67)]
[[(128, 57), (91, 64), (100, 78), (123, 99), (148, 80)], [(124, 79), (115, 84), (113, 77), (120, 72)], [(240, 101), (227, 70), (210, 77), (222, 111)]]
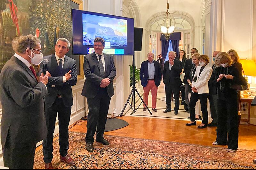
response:
[[(216, 127), (207, 127), (198, 129), (197, 126), (186, 126), (188, 121), (170, 120), (149, 117), (123, 116), (118, 117), (129, 123), (128, 126), (105, 132), (106, 135), (134, 137), (143, 139), (172, 141), (188, 144), (200, 144), (213, 146), (212, 142), (216, 139)], [(86, 132), (87, 121), (79, 122), (69, 131)], [(256, 149), (256, 126), (240, 125), (239, 126), (239, 149)], [(227, 147), (227, 146), (216, 146)], [(42, 145), (36, 150), (42, 148)]]

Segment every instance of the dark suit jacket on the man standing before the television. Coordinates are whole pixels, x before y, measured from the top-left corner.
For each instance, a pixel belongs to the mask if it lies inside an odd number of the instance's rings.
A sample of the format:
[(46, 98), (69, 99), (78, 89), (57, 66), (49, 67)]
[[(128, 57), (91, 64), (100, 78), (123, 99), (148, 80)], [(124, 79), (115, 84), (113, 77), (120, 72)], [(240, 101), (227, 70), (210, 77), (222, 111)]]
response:
[[(111, 98), (114, 95), (113, 79), (116, 77), (116, 67), (113, 60), (113, 56), (105, 54), (105, 77), (110, 79), (110, 84), (106, 87), (108, 96)], [(82, 90), (82, 96), (93, 99), (99, 89), (100, 82), (103, 78), (100, 77), (100, 63), (97, 59), (95, 52), (84, 56), (84, 87)]]

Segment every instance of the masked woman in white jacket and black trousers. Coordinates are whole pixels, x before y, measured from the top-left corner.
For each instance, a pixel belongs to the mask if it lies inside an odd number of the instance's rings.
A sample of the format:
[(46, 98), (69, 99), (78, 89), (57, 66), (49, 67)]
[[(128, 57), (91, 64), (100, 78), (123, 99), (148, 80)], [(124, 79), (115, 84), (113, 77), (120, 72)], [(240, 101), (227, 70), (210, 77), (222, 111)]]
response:
[(189, 101), (190, 107), (190, 122), (187, 126), (196, 125), (195, 121), (195, 106), (199, 99), (201, 103), (201, 110), (203, 113), (202, 123), (197, 127), (199, 129), (206, 128), (208, 124), (207, 112), (207, 98), (209, 95), (208, 81), (212, 75), (212, 68), (208, 65), (209, 57), (207, 55), (200, 55), (198, 57), (199, 66), (196, 67), (196, 72), (192, 82), (192, 93)]

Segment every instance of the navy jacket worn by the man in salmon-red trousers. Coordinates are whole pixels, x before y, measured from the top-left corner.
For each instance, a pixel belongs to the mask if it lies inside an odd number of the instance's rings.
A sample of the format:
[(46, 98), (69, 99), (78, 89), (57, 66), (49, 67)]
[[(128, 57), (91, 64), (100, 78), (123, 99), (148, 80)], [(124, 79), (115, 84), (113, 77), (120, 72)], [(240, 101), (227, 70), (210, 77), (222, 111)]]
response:
[[(154, 75), (154, 81), (156, 87), (160, 85), (161, 77), (162, 77), (162, 70), (159, 65), (159, 63), (155, 60), (153, 60), (154, 66), (155, 66), (155, 75)], [(140, 66), (140, 81), (141, 85), (143, 87), (146, 87), (148, 84), (148, 60), (141, 63)]]

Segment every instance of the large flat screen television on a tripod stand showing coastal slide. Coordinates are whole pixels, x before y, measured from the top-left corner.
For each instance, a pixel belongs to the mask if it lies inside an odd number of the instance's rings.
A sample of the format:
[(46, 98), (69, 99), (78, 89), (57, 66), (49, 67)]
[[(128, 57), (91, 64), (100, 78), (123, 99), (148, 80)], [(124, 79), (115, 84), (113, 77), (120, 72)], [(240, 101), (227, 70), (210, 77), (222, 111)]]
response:
[(72, 9), (73, 55), (94, 52), (96, 37), (105, 40), (104, 53), (134, 55), (134, 19)]

